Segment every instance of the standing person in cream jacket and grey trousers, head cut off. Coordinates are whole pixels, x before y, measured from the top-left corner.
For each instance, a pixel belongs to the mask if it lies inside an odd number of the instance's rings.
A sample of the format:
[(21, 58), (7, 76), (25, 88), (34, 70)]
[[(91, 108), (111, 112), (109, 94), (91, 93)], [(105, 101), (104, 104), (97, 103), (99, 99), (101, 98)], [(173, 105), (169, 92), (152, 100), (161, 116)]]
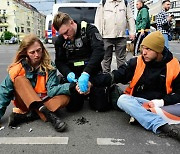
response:
[(130, 39), (134, 40), (135, 37), (135, 22), (127, 0), (102, 0), (96, 10), (95, 25), (104, 41), (102, 68), (104, 72), (110, 72), (114, 48), (117, 68), (126, 61), (127, 27)]

